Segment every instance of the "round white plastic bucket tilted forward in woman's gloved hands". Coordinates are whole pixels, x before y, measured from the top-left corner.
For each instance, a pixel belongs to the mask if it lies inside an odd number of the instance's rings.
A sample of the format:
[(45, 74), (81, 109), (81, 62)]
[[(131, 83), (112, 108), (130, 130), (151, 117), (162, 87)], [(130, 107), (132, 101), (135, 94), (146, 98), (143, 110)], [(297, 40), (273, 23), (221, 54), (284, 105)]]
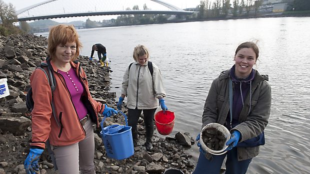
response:
[[(225, 142), (224, 142), (224, 146), (222, 147), (221, 150), (219, 151), (214, 151), (210, 148), (208, 148), (204, 143), (203, 143), (203, 140), (202, 140), (202, 133), (204, 132), (204, 130), (206, 129), (209, 129), (209, 128), (213, 128), (213, 129), (216, 129), (218, 131), (220, 131), (224, 137), (225, 137)], [(227, 151), (225, 151), (225, 149), (228, 147), (226, 145), (226, 142), (230, 139), (231, 135), (230, 135), (230, 132), (228, 131), (228, 129), (226, 127), (224, 127), (223, 125), (220, 125), (218, 123), (209, 123), (207, 125), (205, 125), (202, 129), (201, 129), (201, 132), (200, 132), (200, 140), (199, 140), (199, 143), (201, 145), (201, 148), (205, 151), (205, 152), (208, 152), (210, 154), (213, 154), (213, 155), (222, 155), (222, 154), (225, 154)]]

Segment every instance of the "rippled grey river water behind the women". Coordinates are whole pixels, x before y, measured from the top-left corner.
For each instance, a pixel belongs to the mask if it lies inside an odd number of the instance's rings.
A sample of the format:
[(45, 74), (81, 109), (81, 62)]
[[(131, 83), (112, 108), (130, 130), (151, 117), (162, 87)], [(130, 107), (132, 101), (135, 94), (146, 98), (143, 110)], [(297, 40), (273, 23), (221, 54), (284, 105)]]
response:
[[(233, 65), (238, 44), (259, 40), (254, 68), (269, 75), (272, 105), (266, 143), (247, 174), (309, 174), (309, 28), (310, 17), (279, 17), (92, 28), (78, 33), (82, 55), (90, 56), (94, 43), (106, 46), (113, 71), (111, 91), (117, 96), (125, 68), (133, 61), (134, 46), (146, 45), (150, 61), (160, 68), (166, 105), (176, 116), (173, 133), (188, 132), (193, 138), (201, 128), (212, 80)], [(196, 162), (196, 145), (187, 152)]]

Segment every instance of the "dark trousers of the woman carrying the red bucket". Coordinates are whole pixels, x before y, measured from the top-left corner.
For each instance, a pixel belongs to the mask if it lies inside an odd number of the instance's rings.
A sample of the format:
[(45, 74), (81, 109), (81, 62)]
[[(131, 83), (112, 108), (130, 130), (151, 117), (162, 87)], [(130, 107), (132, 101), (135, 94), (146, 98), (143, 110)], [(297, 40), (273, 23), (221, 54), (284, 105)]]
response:
[(137, 128), (139, 117), (143, 111), (144, 124), (145, 124), (145, 136), (146, 141), (151, 142), (151, 138), (154, 133), (154, 114), (157, 108), (154, 109), (128, 109), (128, 126), (131, 126), (132, 139), (137, 140)]

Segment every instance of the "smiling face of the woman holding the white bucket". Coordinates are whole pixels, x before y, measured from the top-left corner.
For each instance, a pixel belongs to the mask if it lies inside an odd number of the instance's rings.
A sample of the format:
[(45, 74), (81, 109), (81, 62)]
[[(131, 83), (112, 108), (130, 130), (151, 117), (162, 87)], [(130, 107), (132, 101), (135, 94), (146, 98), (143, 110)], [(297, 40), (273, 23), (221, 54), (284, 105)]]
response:
[(233, 60), (235, 61), (235, 76), (246, 78), (256, 63), (256, 54), (252, 48), (241, 48), (234, 55)]

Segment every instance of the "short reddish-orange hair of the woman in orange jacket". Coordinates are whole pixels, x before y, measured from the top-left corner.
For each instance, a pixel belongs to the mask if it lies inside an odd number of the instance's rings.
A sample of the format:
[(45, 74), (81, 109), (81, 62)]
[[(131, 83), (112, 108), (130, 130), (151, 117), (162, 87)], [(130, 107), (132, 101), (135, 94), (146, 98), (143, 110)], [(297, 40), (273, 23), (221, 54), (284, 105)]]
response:
[(75, 60), (79, 55), (79, 50), (82, 47), (78, 40), (78, 34), (73, 25), (59, 24), (53, 26), (49, 30), (47, 38), (47, 50), (51, 60), (55, 59), (55, 52), (58, 45), (66, 44), (67, 42), (76, 43), (76, 51), (73, 55), (72, 61)]

